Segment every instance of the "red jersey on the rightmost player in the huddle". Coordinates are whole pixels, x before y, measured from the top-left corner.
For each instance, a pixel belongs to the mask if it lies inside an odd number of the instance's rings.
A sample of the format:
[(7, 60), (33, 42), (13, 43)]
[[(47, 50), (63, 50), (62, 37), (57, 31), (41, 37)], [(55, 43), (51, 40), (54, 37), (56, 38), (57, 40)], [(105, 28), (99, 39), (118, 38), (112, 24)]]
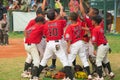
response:
[(104, 30), (101, 26), (97, 26), (93, 29), (92, 32), (92, 42), (96, 43), (97, 46), (101, 44), (106, 44), (107, 40), (104, 36)]

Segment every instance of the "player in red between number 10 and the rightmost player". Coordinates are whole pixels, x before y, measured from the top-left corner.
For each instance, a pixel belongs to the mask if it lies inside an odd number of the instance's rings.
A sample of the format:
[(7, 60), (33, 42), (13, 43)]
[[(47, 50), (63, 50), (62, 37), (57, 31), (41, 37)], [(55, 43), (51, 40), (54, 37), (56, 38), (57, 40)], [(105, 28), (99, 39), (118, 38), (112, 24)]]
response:
[(70, 13), (71, 25), (69, 25), (65, 31), (65, 39), (67, 40), (67, 52), (69, 65), (72, 66), (73, 60), (78, 54), (81, 58), (84, 69), (88, 74), (88, 79), (91, 80), (89, 63), (87, 61), (87, 56), (85, 53), (84, 41), (82, 40), (82, 25), (78, 21), (78, 14), (75, 12)]

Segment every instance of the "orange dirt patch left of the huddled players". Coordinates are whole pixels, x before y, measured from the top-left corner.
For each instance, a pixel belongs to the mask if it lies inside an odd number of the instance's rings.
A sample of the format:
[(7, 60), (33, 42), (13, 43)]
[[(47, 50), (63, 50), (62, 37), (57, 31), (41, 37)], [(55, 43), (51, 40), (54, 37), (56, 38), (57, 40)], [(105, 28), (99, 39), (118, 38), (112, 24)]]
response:
[(26, 56), (23, 39), (10, 39), (9, 45), (0, 45), (0, 58), (14, 58)]

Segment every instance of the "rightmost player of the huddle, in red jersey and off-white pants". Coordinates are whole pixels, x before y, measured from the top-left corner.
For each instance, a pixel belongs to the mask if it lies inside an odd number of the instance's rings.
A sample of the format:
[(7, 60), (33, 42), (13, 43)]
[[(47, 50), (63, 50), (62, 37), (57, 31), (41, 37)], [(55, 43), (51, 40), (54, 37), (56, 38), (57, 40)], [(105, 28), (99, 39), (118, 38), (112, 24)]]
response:
[(108, 73), (110, 78), (114, 77), (114, 73), (111, 70), (110, 62), (107, 58), (107, 53), (109, 51), (109, 44), (104, 35), (104, 29), (99, 24), (102, 21), (102, 17), (97, 15), (92, 18), (92, 24), (94, 25), (94, 29), (92, 31), (92, 43), (97, 48), (96, 52), (96, 65), (97, 65), (97, 73), (99, 77), (97, 79), (104, 80), (102, 76), (102, 62), (108, 69)]

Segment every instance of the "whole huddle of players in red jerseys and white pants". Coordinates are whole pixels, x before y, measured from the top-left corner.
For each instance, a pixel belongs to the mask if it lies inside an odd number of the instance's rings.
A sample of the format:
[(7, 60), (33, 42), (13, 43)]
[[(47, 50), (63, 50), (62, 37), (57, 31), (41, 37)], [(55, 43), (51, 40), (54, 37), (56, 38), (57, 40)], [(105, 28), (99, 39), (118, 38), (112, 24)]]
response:
[[(28, 23), (24, 31), (27, 58), (22, 76), (27, 76), (25, 74), (33, 64), (30, 80), (39, 80), (42, 70), (51, 57), (52, 64), (56, 67), (57, 57), (63, 65), (65, 78), (75, 80), (72, 66), (76, 65), (78, 54), (87, 74), (87, 80), (104, 80), (104, 69), (107, 69), (107, 74), (112, 79), (115, 75), (107, 57), (110, 47), (104, 35), (104, 20), (99, 15), (99, 10), (90, 8), (86, 13), (83, 0), (80, 0), (78, 10), (82, 18), (76, 9), (66, 16), (63, 6), (57, 0), (59, 9), (49, 9), (44, 13), (45, 2), (46, 0), (43, 0), (42, 6), (36, 11), (36, 18)], [(94, 61), (91, 61), (91, 58), (94, 58)], [(88, 60), (97, 73), (94, 79)]]

